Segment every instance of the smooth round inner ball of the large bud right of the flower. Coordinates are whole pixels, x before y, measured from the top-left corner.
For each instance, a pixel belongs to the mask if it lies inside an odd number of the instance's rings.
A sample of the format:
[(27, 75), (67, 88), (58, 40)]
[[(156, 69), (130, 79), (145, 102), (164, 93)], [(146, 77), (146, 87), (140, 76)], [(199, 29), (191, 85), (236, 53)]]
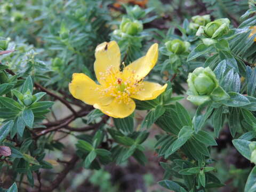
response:
[(199, 95), (205, 95), (213, 91), (215, 83), (209, 76), (201, 73), (195, 78), (194, 86)]

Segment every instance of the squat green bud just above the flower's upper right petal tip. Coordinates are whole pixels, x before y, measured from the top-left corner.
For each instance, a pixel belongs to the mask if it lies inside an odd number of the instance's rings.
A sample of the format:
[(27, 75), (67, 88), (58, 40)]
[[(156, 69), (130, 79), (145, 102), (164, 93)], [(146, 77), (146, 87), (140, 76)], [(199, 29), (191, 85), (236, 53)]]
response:
[(165, 43), (165, 46), (168, 51), (173, 52), (174, 54), (182, 54), (188, 50), (190, 44), (188, 42), (183, 42), (180, 39), (173, 39)]

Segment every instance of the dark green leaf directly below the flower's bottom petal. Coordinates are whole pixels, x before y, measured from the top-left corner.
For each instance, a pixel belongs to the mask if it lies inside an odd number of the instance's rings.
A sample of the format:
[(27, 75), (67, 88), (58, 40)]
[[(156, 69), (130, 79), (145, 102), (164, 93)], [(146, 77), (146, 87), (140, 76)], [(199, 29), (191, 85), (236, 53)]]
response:
[(113, 118), (115, 127), (126, 133), (131, 133), (133, 131), (134, 123), (133, 117), (128, 116), (125, 118)]

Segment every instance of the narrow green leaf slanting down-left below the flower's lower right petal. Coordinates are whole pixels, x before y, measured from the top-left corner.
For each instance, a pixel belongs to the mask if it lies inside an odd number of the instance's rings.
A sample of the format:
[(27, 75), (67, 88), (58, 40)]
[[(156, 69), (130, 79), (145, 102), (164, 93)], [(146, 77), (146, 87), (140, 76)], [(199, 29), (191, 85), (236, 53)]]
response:
[(143, 119), (141, 123), (141, 127), (149, 128), (153, 123), (157, 121), (157, 119), (162, 116), (165, 112), (165, 108), (161, 105), (156, 106), (156, 108), (149, 111), (146, 117)]

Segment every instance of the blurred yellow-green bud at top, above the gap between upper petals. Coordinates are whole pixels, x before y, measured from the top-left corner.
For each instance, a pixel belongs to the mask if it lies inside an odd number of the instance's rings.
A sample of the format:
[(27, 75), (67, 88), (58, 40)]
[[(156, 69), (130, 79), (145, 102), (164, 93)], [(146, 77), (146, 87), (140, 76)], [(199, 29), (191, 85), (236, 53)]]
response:
[(130, 19), (123, 18), (120, 29), (128, 35), (136, 35), (143, 30), (143, 25), (141, 21), (131, 21)]

